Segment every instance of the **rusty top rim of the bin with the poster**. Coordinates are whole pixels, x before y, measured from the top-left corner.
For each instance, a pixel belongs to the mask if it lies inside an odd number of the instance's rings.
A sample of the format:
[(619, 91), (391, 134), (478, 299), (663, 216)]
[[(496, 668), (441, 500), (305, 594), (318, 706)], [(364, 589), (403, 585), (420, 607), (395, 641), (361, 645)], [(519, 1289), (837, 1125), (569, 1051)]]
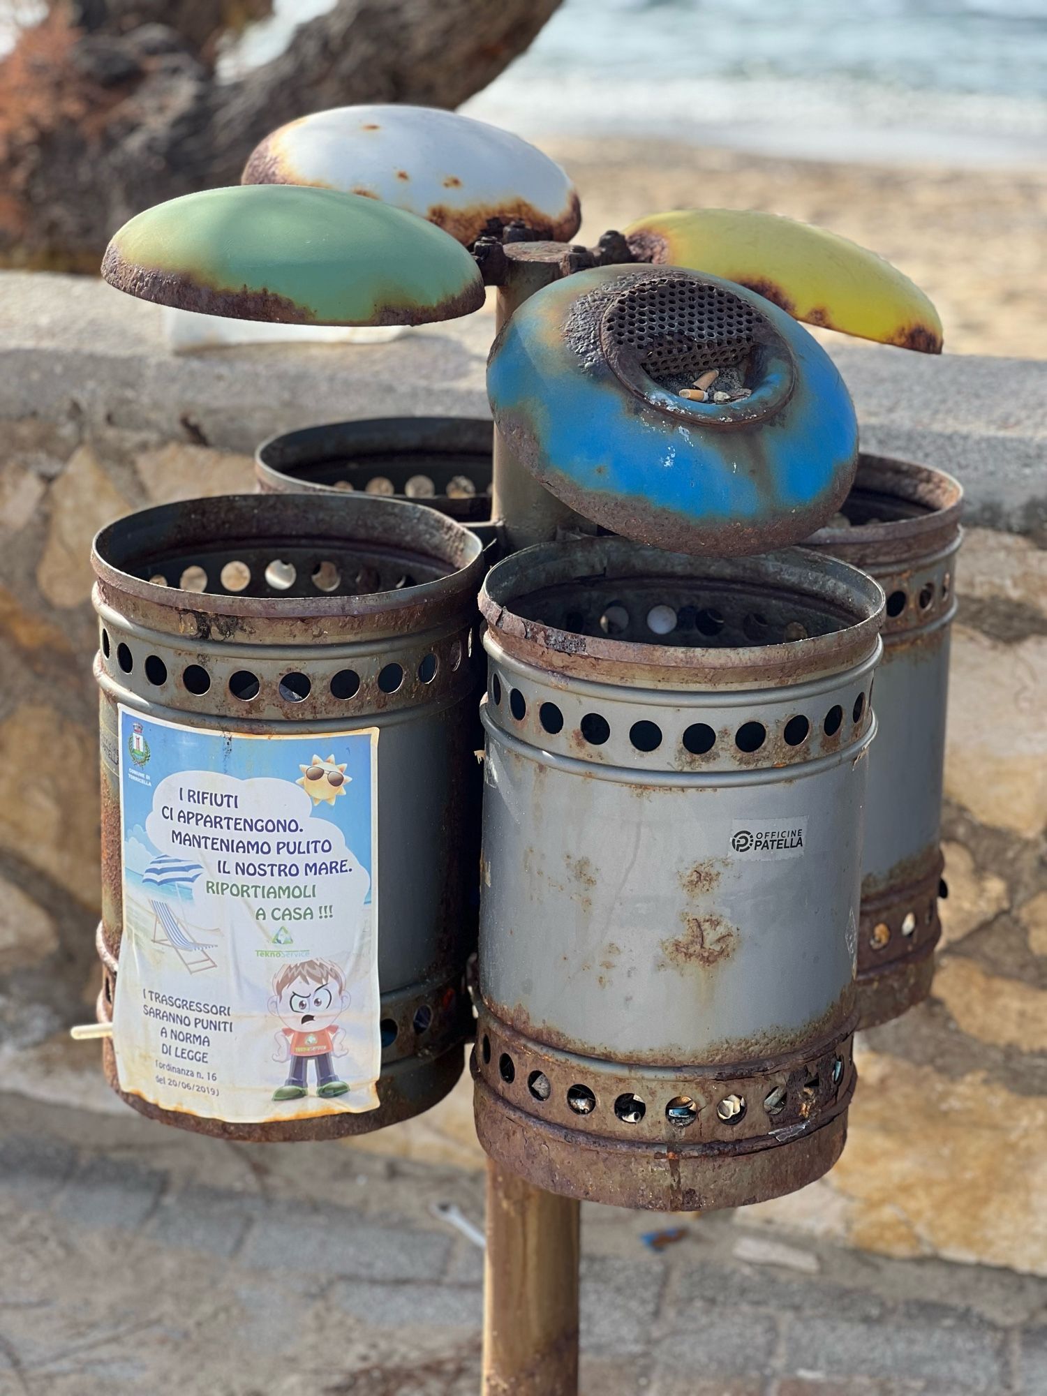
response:
[[(279, 550), (303, 537), (332, 547), (355, 543), (403, 547), (415, 554), (424, 553), (445, 565), (448, 574), (402, 591), (363, 596), (230, 596), (159, 586), (119, 565), (134, 542), (141, 547), (152, 537), (165, 549), (191, 551), (226, 535), (233, 549), (250, 543)], [(223, 494), (158, 504), (107, 524), (95, 535), (91, 565), (101, 584), (151, 606), (286, 621), (374, 617), (424, 606), (444, 595), (448, 585), (458, 591), (468, 589), (473, 581), (479, 584), (483, 544), (469, 529), (410, 500), (341, 493), (336, 500), (313, 494)]]

